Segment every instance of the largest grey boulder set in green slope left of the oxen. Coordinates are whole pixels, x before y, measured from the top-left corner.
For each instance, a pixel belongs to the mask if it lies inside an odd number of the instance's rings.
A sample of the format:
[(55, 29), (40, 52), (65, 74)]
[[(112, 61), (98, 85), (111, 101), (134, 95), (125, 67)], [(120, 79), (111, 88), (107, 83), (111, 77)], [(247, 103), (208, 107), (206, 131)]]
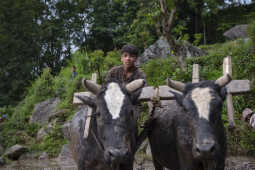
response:
[(38, 123), (41, 125), (47, 123), (50, 117), (57, 113), (56, 107), (59, 103), (59, 98), (52, 98), (37, 104), (32, 116), (30, 117), (30, 123)]

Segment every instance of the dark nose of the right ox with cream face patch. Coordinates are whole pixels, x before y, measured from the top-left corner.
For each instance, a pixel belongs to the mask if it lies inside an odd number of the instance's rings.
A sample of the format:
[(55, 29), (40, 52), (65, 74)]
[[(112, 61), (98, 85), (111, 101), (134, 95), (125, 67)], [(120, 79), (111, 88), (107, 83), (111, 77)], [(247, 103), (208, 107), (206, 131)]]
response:
[(205, 141), (203, 143), (196, 144), (195, 147), (195, 156), (210, 158), (215, 154), (215, 142), (214, 141)]

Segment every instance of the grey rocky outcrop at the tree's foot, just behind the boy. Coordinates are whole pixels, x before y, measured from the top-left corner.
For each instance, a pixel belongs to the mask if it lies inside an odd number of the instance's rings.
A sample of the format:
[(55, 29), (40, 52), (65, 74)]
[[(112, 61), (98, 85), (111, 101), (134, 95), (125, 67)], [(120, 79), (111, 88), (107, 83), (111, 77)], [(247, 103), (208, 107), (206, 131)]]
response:
[[(178, 43), (178, 42), (176, 42)], [(205, 55), (205, 52), (187, 41), (183, 41), (180, 45), (181, 48), (178, 51), (178, 55), (182, 57), (197, 57)], [(136, 64), (140, 66), (151, 59), (167, 58), (171, 55), (171, 46), (167, 42), (166, 38), (160, 37), (158, 41), (145, 49), (143, 54), (137, 59)], [(178, 57), (178, 56), (177, 56)]]

